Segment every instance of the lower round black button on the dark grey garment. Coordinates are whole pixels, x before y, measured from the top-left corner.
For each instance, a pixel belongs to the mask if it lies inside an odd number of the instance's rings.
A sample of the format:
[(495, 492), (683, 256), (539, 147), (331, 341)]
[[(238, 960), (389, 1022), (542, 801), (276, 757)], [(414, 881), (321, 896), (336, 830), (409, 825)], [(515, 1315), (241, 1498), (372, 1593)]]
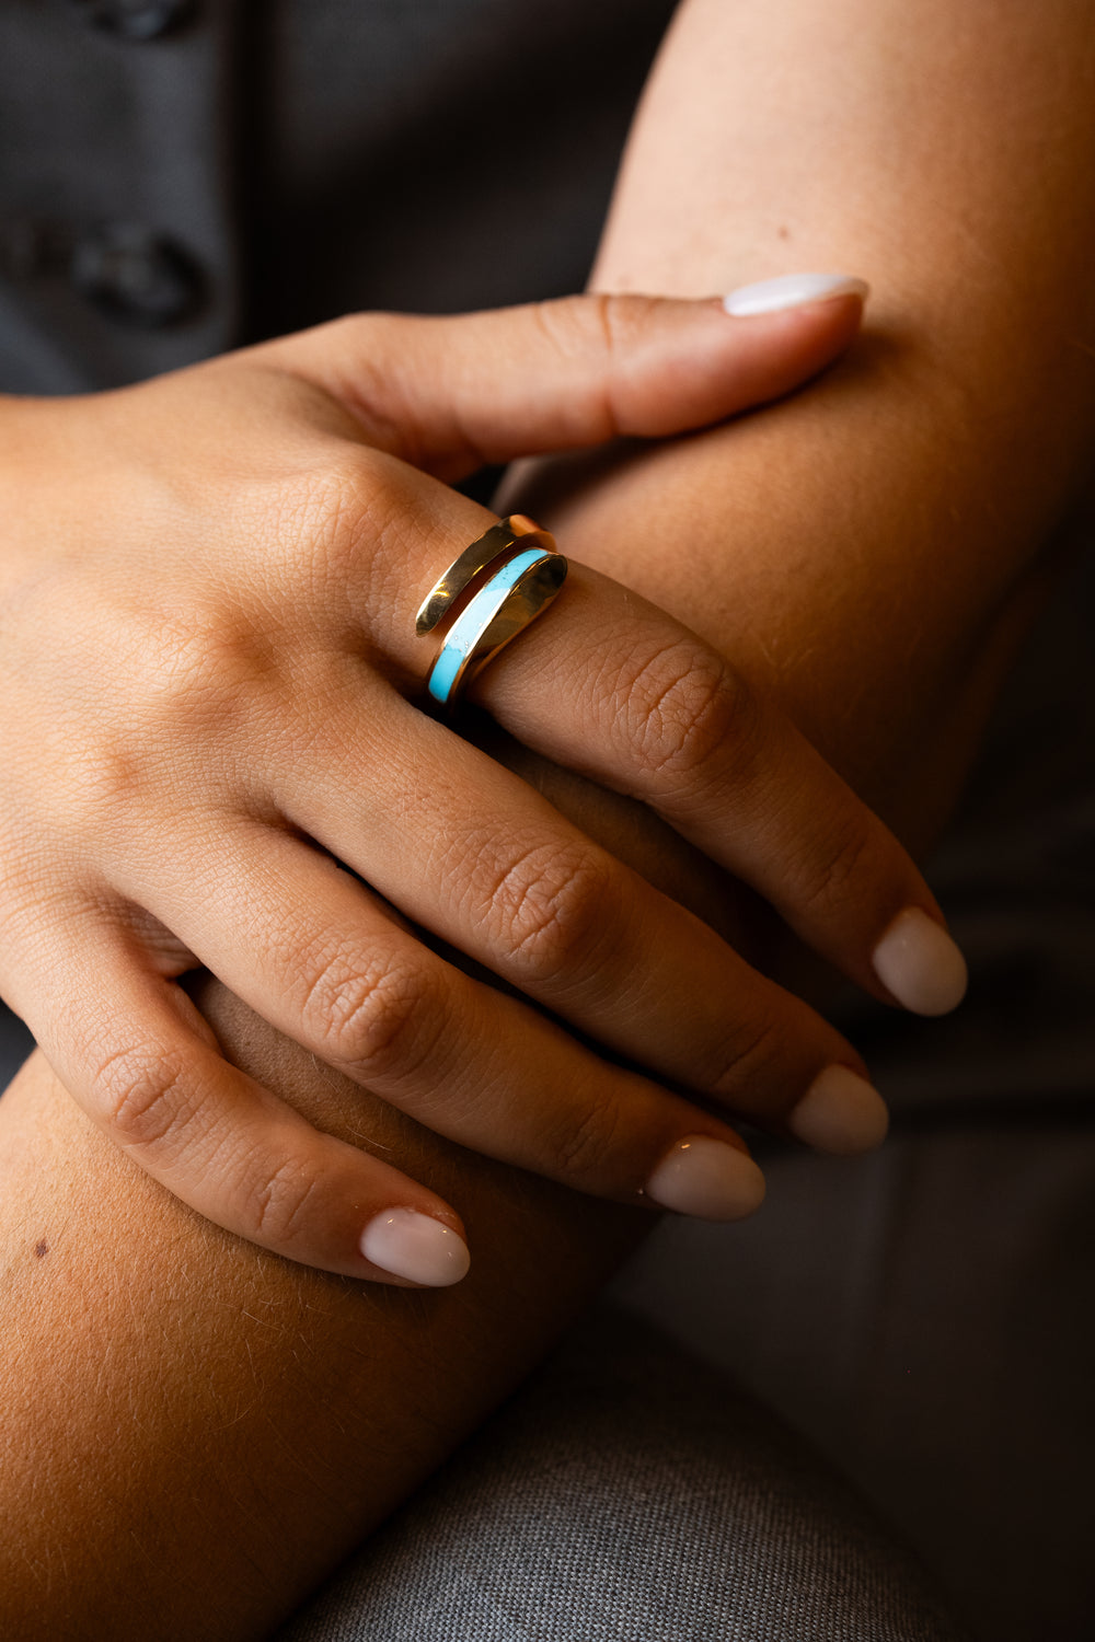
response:
[(105, 223), (77, 240), (72, 284), (126, 325), (177, 325), (202, 305), (202, 274), (172, 240), (136, 223)]

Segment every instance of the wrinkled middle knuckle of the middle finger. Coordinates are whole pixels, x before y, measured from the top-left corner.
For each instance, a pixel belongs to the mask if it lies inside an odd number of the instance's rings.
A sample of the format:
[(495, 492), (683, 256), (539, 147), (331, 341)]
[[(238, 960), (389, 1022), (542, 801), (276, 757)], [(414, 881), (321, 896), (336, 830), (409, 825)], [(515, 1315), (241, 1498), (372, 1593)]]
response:
[(578, 846), (522, 851), (491, 875), (491, 933), (525, 980), (573, 980), (589, 964), (617, 923), (614, 878), (607, 859)]

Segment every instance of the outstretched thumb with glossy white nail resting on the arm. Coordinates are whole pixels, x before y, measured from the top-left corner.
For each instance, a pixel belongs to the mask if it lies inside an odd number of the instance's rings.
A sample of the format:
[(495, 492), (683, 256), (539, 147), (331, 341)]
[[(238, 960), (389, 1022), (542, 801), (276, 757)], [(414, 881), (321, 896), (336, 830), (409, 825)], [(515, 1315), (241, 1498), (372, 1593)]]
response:
[(865, 294), (860, 279), (806, 274), (726, 302), (583, 296), (445, 319), (355, 314), (264, 351), (345, 404), (371, 445), (453, 481), (778, 399), (847, 348)]

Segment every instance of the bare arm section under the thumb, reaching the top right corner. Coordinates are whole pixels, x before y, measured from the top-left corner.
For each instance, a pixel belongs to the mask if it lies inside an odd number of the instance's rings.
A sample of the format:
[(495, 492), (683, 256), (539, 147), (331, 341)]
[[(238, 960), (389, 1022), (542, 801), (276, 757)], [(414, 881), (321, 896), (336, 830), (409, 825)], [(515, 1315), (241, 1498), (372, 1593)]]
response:
[(685, 5), (594, 286), (842, 268), (872, 281), (868, 333), (747, 422), (522, 491), (576, 558), (775, 688), (914, 842), (1084, 493), (1090, 18), (1067, 0)]

